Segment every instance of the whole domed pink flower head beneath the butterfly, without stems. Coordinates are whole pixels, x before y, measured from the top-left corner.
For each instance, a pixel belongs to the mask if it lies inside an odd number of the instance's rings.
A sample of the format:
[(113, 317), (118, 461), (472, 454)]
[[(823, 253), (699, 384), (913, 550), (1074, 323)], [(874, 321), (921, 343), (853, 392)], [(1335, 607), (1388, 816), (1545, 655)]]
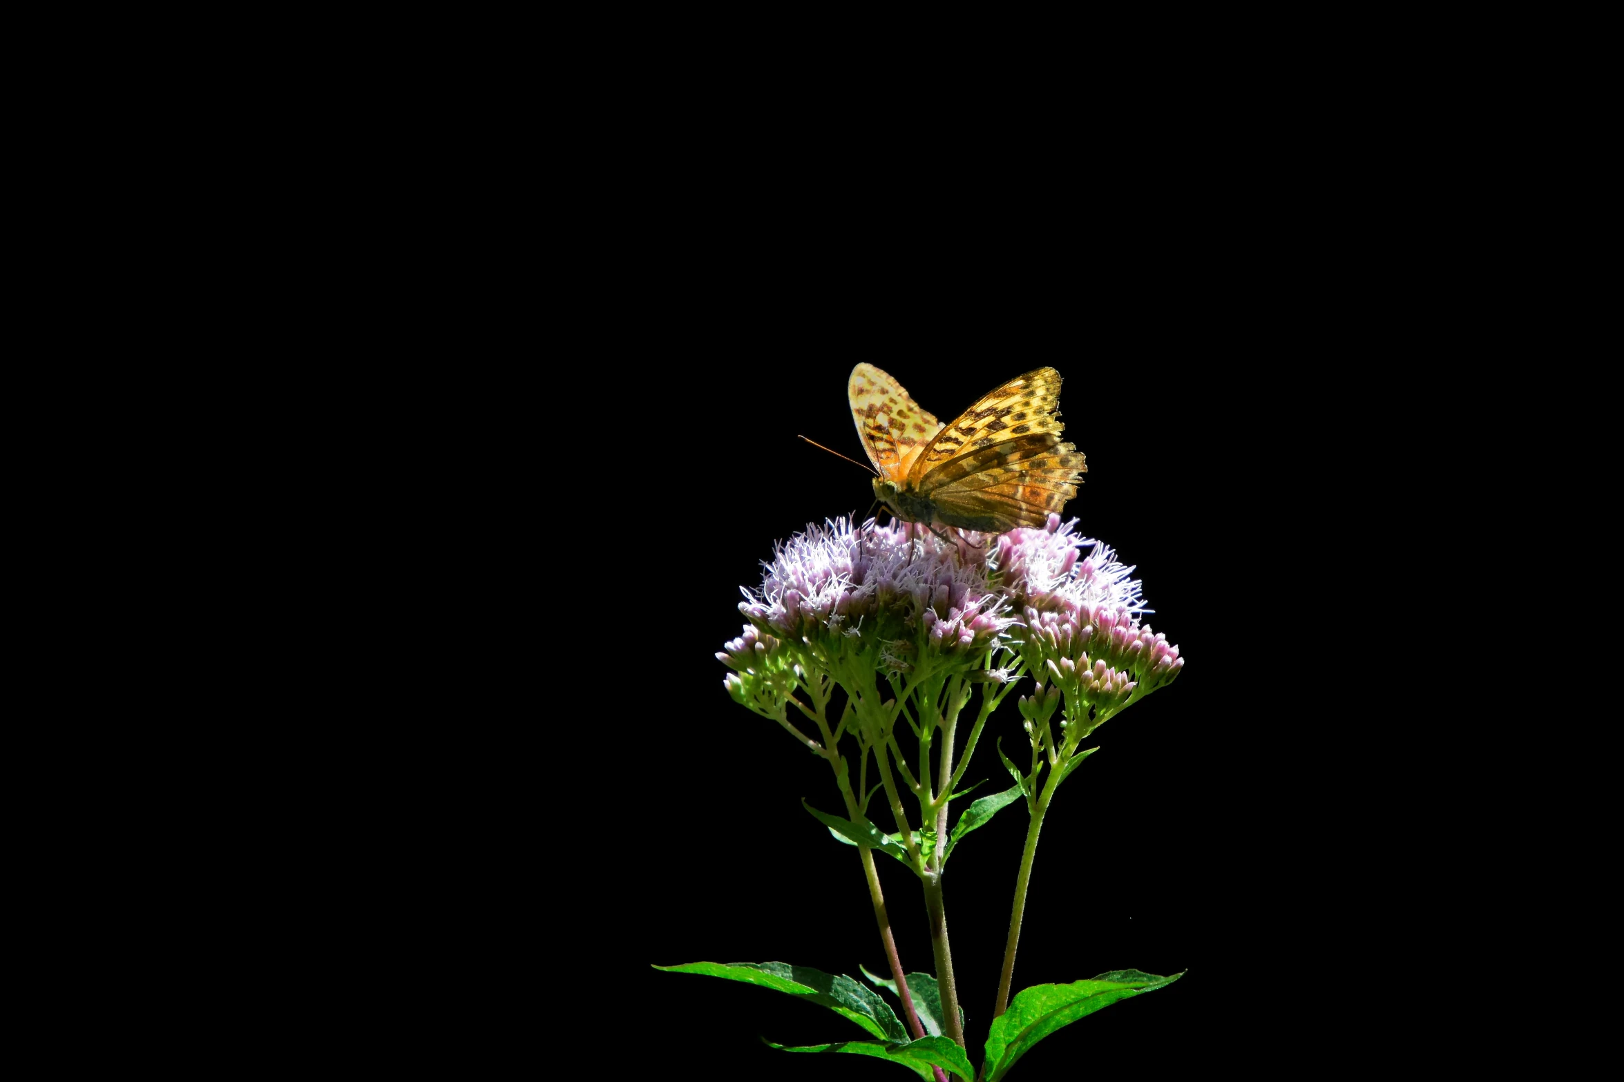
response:
[(775, 547), (762, 586), (742, 590), (750, 626), (716, 657), (739, 673), (728, 686), (745, 701), (793, 686), (797, 660), (814, 663), (802, 646), (827, 660), (846, 641), (859, 652), (877, 641), (869, 657), (888, 670), (913, 668), (921, 650), (979, 662), (997, 646), (1103, 720), (1184, 667), (1177, 646), (1140, 625), (1150, 610), (1132, 573), (1057, 514), (1041, 529), (947, 540), (830, 519)]

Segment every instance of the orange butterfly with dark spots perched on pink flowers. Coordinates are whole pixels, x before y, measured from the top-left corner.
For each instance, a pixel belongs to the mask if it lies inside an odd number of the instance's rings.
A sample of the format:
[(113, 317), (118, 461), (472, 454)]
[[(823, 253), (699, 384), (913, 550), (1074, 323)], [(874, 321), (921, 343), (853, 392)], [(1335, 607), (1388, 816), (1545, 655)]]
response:
[(1088, 472), (1082, 453), (1060, 443), (1054, 368), (999, 384), (947, 425), (874, 365), (851, 370), (848, 397), (879, 474), (874, 495), (908, 522), (981, 532), (1043, 526)]

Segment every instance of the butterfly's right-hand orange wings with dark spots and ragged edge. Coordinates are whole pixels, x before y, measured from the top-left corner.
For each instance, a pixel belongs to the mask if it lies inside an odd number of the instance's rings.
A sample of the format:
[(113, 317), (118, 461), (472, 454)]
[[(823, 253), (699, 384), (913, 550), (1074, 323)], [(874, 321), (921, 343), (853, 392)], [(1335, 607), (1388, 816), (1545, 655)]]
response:
[(1060, 441), (1060, 373), (1034, 368), (984, 394), (914, 451), (908, 487), (948, 526), (1043, 526), (1077, 495), (1088, 466)]

